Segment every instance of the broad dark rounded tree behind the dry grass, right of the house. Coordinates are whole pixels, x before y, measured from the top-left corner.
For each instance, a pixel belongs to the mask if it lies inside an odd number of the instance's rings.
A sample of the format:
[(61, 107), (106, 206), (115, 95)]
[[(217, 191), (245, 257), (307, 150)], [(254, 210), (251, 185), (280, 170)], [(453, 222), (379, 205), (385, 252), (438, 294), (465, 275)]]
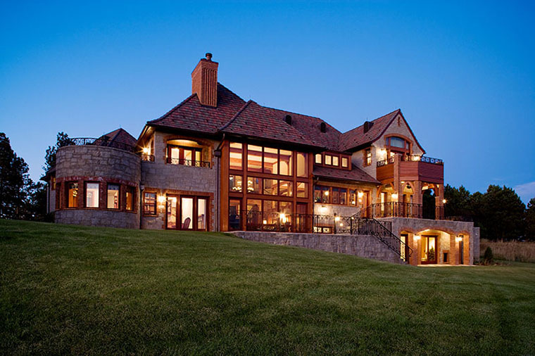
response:
[(513, 240), (524, 235), (526, 206), (513, 189), (490, 185), (480, 204), (478, 220), (482, 236), (491, 240)]

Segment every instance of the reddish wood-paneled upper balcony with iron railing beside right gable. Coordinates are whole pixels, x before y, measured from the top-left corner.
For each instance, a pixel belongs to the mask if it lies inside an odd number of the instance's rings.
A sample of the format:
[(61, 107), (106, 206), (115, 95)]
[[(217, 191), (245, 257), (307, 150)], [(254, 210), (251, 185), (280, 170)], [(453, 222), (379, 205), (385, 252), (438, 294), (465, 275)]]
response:
[[(377, 161), (377, 179), (384, 181), (394, 178), (394, 157)], [(400, 179), (442, 184), (444, 163), (439, 158), (420, 155), (403, 155), (399, 162)]]

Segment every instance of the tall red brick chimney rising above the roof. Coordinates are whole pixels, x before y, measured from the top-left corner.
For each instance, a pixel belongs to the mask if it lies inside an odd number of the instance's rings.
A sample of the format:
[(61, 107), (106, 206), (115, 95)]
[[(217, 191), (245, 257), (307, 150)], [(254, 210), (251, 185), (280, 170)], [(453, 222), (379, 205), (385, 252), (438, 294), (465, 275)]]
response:
[(206, 53), (191, 72), (191, 94), (196, 93), (203, 105), (218, 106), (218, 65), (212, 53)]

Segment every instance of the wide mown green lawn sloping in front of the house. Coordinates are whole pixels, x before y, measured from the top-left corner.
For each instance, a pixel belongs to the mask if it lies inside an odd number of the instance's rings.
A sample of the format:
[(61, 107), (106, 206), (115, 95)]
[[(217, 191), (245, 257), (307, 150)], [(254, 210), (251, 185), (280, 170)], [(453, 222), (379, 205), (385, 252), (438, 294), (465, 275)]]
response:
[(534, 354), (535, 264), (0, 220), (0, 354)]

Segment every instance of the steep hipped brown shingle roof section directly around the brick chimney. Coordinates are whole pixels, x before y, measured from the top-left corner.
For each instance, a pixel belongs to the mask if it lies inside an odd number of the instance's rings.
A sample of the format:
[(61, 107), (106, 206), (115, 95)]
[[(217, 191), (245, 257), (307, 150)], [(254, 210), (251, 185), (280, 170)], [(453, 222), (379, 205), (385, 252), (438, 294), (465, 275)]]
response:
[(215, 134), (244, 104), (242, 98), (218, 83), (217, 107), (201, 105), (197, 94), (192, 94), (168, 113), (147, 124)]

